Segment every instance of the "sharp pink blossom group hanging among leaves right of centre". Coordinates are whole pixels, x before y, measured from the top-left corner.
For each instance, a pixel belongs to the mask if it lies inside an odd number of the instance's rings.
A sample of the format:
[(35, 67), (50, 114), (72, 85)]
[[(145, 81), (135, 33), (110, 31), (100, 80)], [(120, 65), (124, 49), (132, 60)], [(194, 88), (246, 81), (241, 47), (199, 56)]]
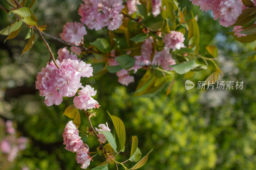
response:
[[(176, 49), (180, 49), (185, 47), (184, 45), (184, 35), (181, 32), (171, 31), (164, 36), (164, 48), (161, 51), (155, 51), (153, 60), (151, 62), (151, 55), (153, 54), (153, 38), (149, 37), (145, 39), (143, 44), (141, 45), (141, 55), (133, 56), (135, 60), (135, 64), (129, 70), (121, 70), (116, 72), (118, 76), (118, 82), (122, 85), (128, 86), (130, 83), (134, 82), (134, 77), (130, 76), (130, 71), (133, 70), (133, 73), (136, 73), (138, 69), (143, 66), (155, 65), (161, 66), (164, 70), (171, 71), (172, 68), (170, 65), (176, 64), (175, 60), (172, 58), (172, 54), (170, 53), (170, 49), (173, 51)], [(129, 54), (130, 52), (127, 52)], [(114, 58), (116, 56), (115, 51), (111, 52), (111, 56)], [(108, 65), (115, 66), (119, 65), (119, 63), (114, 58), (108, 58)]]

